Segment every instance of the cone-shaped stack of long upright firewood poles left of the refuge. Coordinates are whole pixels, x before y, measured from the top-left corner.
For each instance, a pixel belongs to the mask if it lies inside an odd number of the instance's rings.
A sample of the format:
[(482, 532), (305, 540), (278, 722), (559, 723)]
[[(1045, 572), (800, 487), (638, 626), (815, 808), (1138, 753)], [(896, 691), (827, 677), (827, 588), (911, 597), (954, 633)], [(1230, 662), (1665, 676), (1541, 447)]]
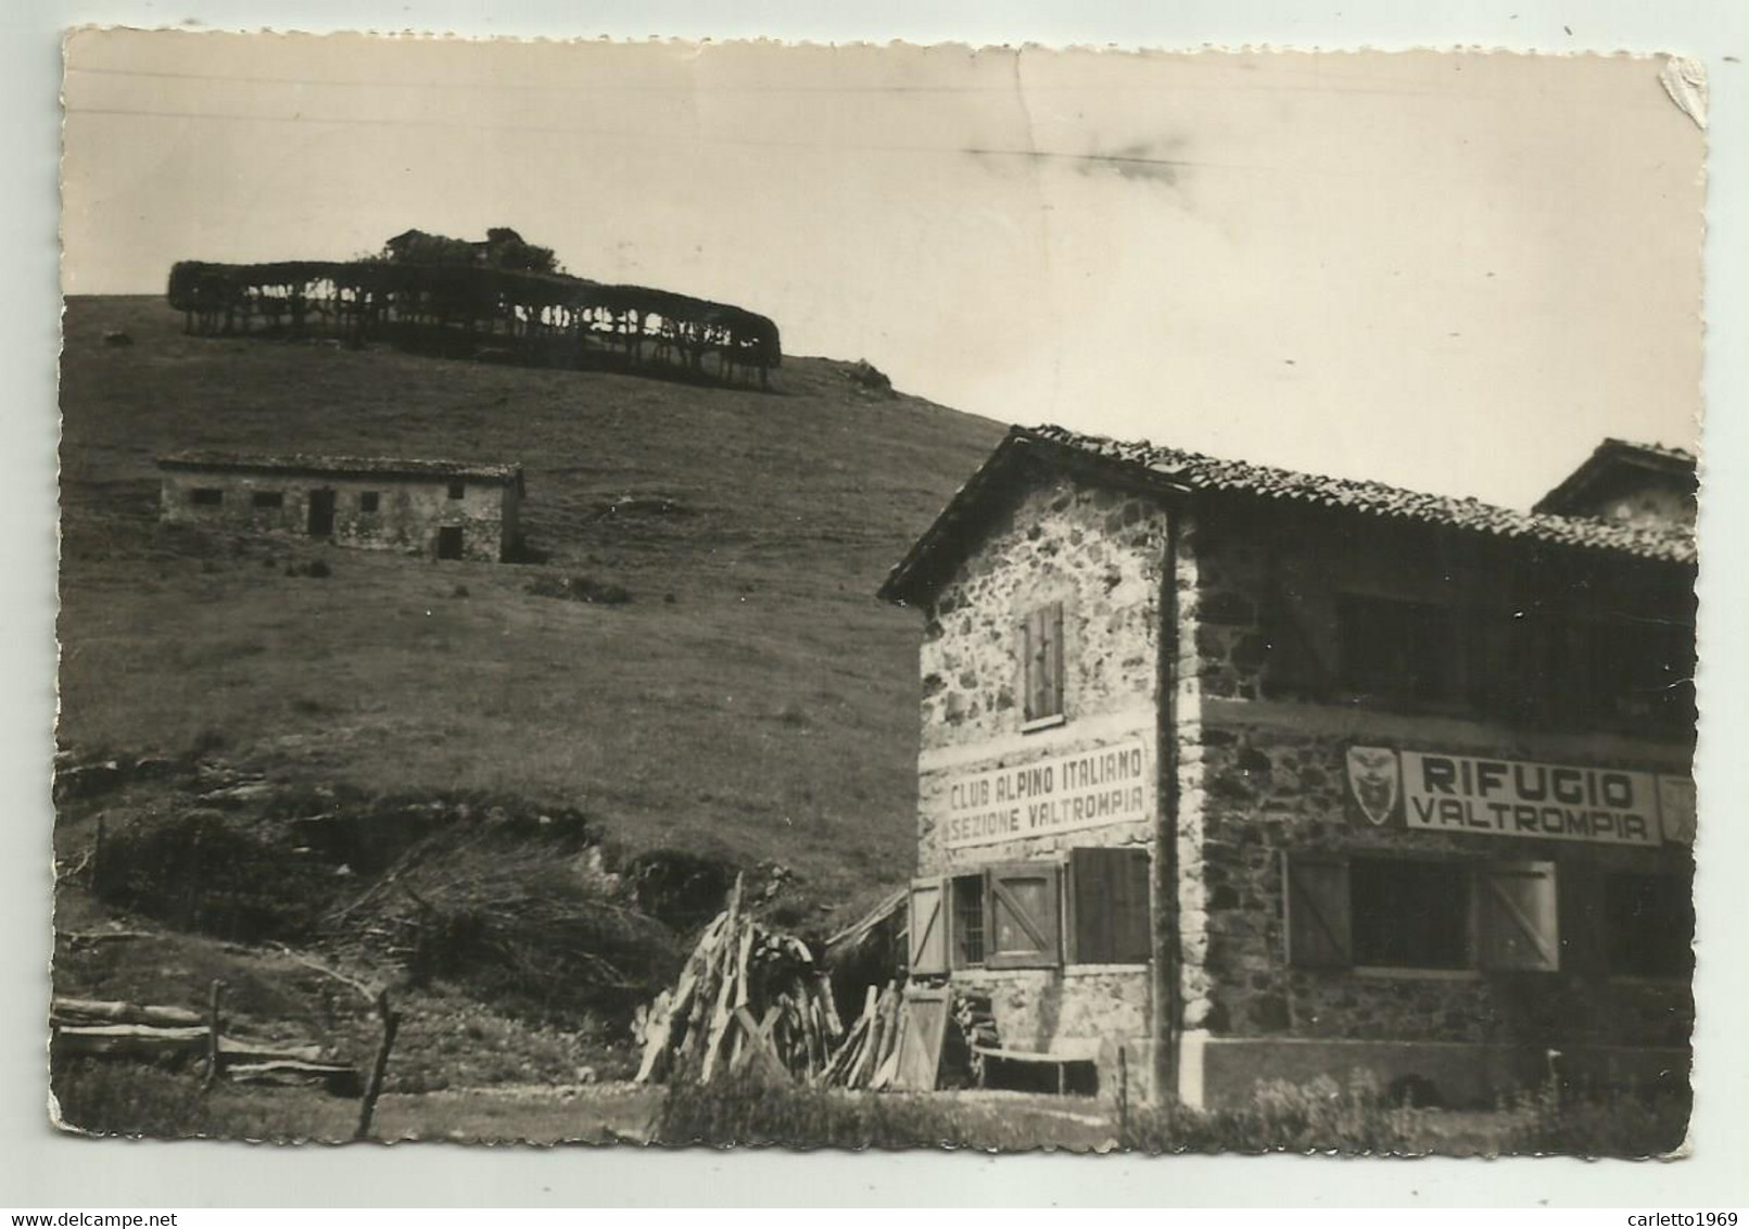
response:
[(705, 927), (673, 989), (633, 1021), (644, 1047), (638, 1082), (710, 1082), (757, 1063), (813, 1080), (843, 1023), (808, 946), (742, 913), (742, 881)]

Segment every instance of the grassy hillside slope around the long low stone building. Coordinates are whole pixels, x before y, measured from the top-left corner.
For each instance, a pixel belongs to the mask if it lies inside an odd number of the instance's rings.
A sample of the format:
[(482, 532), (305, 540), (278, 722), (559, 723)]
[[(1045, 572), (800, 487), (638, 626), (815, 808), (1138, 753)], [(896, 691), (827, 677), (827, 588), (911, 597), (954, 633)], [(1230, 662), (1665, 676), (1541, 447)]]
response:
[[(63, 743), (518, 795), (626, 850), (785, 864), (815, 900), (906, 878), (920, 628), (873, 591), (997, 423), (820, 358), (759, 393), (180, 329), (156, 299), (66, 309)], [(182, 448), (518, 460), (549, 561), (164, 530), (152, 460)], [(332, 575), (285, 573), (311, 558)]]

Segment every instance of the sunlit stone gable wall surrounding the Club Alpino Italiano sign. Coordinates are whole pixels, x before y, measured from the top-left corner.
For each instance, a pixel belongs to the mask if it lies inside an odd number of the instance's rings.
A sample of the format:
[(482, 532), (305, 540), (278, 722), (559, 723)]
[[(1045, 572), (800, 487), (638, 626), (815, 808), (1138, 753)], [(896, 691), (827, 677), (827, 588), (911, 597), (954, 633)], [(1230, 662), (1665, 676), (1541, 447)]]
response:
[[(923, 610), (918, 872), (1056, 860), (1077, 846), (1151, 846), (1160, 816), (1158, 691), (1167, 512), (1153, 498), (1041, 479), (1016, 493)], [(1063, 720), (1023, 731), (1020, 622), (1063, 603)], [(948, 848), (950, 794), (992, 769), (1116, 746), (1140, 748), (1140, 809), (1118, 822)], [(1067, 934), (1065, 949), (1067, 949)], [(992, 996), (1002, 1045), (1091, 1058), (1112, 1087), (1126, 1047), (1132, 1091), (1151, 1066), (1147, 965), (958, 969)]]

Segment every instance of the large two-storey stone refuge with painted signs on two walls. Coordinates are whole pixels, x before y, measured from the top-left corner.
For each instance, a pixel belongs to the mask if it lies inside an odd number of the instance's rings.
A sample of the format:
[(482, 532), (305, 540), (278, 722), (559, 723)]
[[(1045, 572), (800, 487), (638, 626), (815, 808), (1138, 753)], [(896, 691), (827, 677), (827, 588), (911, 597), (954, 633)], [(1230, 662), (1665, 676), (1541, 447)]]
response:
[(913, 984), (988, 995), (990, 1070), (1189, 1105), (1686, 1082), (1695, 462), (1539, 507), (1011, 430), (881, 587)]

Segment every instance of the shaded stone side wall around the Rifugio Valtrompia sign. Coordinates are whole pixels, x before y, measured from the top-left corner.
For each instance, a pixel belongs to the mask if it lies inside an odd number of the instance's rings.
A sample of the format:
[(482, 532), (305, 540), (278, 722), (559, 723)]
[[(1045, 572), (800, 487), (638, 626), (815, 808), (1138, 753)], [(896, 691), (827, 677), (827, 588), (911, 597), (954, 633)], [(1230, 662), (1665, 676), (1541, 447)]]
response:
[[(1249, 531), (1247, 531), (1249, 530)], [(1609, 871), (1684, 872), (1686, 846), (1634, 848), (1467, 832), (1424, 832), (1352, 815), (1352, 743), (1686, 774), (1690, 748), (1621, 729), (1546, 729), (1455, 706), (1307, 691), (1275, 603), (1286, 587), (1313, 628), (1338, 587), (1420, 596), (1474, 591), (1476, 561), (1378, 551), (1357, 538), (1307, 540), (1315, 523), (1224, 523), (1189, 537), (1196, 565), (1195, 663), (1182, 694), (1184, 792), (1179, 977), (1184, 1026), (1228, 1038), (1354, 1038), (1534, 1045), (1681, 1047), (1688, 984), (1597, 972), (1586, 960)], [(1382, 533), (1382, 537), (1389, 537)], [(1313, 566), (1307, 566), (1312, 563)], [(1490, 573), (1502, 575), (1502, 573)], [(1522, 579), (1511, 586), (1525, 584)], [(1466, 586), (1469, 586), (1466, 589)], [(1497, 593), (1495, 600), (1522, 600)], [(1313, 635), (1317, 635), (1313, 631)], [(1473, 862), (1550, 860), (1560, 902), (1560, 972), (1375, 974), (1287, 965), (1284, 853), (1392, 853)]]

